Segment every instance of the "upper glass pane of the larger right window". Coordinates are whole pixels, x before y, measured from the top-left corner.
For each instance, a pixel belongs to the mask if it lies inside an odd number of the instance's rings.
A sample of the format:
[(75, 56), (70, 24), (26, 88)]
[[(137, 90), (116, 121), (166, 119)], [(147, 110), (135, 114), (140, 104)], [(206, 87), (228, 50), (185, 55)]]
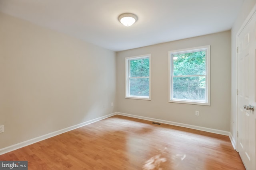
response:
[(205, 75), (205, 53), (204, 50), (173, 55), (173, 75)]

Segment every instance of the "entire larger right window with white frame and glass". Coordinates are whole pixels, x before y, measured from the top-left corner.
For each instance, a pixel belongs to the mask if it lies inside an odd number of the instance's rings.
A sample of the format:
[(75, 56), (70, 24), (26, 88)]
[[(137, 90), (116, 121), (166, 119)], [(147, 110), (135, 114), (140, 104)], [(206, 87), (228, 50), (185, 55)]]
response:
[(169, 102), (210, 106), (210, 45), (169, 51)]

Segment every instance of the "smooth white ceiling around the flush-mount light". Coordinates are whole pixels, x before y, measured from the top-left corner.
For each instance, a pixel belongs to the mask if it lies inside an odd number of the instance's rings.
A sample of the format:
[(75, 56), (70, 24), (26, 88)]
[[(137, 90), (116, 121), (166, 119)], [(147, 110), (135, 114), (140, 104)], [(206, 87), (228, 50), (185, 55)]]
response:
[[(0, 0), (0, 11), (113, 51), (231, 29), (244, 0)], [(125, 27), (124, 12), (138, 21)]]

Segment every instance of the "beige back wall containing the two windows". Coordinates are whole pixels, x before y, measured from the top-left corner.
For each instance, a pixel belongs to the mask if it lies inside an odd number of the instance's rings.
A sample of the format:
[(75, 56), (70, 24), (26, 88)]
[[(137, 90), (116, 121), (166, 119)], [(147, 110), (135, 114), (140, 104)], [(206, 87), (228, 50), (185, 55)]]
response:
[[(168, 51), (211, 45), (211, 106), (168, 102)], [(125, 99), (125, 57), (151, 54), (151, 101)], [(117, 52), (118, 111), (230, 131), (230, 31)], [(195, 116), (195, 111), (200, 116)]]

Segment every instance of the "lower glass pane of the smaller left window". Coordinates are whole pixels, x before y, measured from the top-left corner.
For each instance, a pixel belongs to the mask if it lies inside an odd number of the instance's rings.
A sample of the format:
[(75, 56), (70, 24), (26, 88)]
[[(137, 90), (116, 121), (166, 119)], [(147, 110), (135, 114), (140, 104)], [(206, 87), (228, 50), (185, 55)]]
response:
[(149, 96), (149, 78), (130, 78), (130, 96)]

